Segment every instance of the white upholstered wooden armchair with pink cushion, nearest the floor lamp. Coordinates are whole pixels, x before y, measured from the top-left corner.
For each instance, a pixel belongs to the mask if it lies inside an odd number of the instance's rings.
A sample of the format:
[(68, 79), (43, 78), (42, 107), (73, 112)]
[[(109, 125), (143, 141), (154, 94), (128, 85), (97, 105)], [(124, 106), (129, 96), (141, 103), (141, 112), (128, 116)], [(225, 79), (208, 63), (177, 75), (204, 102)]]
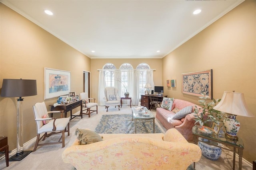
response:
[[(36, 103), (33, 106), (33, 111), (34, 111), (34, 117), (36, 121), (36, 131), (37, 131), (36, 145), (34, 147), (33, 152), (36, 151), (36, 148), (38, 146), (42, 146), (42, 145), (62, 143), (62, 147), (65, 147), (65, 132), (68, 132), (68, 136), (69, 136), (69, 118), (62, 118), (63, 111), (47, 111), (46, 105), (44, 102)], [(57, 119), (57, 118), (49, 117), (48, 113), (61, 113), (61, 118)], [(66, 128), (68, 130), (66, 130)], [(42, 133), (44, 133), (44, 135), (40, 137), (40, 134)], [(56, 133), (62, 134), (58, 141), (39, 144), (39, 141), (42, 138), (43, 138), (42, 141), (44, 141), (46, 137), (49, 137), (50, 135), (53, 135)]]

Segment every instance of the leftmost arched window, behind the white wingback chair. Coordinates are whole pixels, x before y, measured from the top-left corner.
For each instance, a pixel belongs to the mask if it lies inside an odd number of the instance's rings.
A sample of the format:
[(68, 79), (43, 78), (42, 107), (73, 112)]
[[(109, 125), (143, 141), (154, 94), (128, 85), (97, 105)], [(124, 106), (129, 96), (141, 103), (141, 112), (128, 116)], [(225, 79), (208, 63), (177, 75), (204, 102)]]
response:
[(106, 86), (114, 87), (114, 70), (116, 66), (112, 63), (107, 63), (103, 66)]

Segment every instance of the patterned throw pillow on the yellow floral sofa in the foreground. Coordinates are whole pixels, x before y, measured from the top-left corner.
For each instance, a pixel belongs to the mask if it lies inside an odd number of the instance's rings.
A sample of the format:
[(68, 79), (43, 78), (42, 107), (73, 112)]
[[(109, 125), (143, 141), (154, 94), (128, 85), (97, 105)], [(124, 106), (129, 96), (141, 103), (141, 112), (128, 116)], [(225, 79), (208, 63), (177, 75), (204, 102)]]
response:
[(94, 131), (89, 129), (76, 129), (75, 135), (77, 135), (78, 145), (87, 145), (90, 143), (95, 143), (103, 141), (102, 137)]

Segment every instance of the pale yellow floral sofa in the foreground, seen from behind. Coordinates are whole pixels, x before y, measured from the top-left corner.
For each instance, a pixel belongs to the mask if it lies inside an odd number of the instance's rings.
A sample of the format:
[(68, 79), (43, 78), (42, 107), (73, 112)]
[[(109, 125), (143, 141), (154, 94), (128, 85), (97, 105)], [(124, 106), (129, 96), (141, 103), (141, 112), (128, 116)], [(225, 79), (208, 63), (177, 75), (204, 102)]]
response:
[(80, 169), (173, 169), (186, 170), (198, 162), (201, 149), (176, 130), (165, 134), (100, 134), (103, 141), (78, 145), (62, 153), (62, 159)]

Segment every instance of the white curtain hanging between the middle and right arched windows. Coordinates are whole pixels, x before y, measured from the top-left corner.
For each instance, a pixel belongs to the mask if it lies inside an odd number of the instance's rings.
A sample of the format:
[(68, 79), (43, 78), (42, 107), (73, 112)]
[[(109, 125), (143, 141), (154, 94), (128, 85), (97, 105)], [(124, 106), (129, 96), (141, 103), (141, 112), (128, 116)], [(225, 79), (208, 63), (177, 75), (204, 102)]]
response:
[(134, 78), (133, 78), (133, 91), (132, 91), (132, 105), (138, 106), (140, 101), (140, 70), (134, 70)]

